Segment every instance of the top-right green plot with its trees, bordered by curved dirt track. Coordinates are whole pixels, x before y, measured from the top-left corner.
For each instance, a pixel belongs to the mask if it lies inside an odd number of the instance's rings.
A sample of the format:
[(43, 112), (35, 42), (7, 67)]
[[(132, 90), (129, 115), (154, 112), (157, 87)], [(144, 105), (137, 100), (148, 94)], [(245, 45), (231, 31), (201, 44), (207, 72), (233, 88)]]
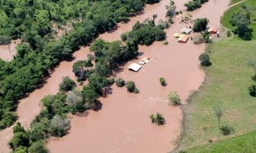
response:
[[(228, 9), (222, 24), (245, 40), (256, 39), (256, 1), (247, 0)], [(234, 21), (235, 19), (235, 21)], [(238, 24), (236, 24), (238, 23)], [(252, 30), (252, 31), (251, 31)]]

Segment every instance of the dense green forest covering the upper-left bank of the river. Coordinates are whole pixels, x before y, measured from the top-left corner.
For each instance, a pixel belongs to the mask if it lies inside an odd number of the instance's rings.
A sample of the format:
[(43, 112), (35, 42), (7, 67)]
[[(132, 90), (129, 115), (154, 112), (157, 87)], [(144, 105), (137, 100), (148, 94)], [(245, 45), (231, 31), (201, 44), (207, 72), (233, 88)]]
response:
[[(135, 15), (146, 3), (154, 2), (159, 1), (1, 1), (0, 35), (13, 39), (21, 38), (25, 43), (18, 45), (14, 60), (0, 60), (0, 129), (5, 129), (15, 122), (14, 111), (18, 99), (44, 83), (50, 69), (61, 60), (70, 60), (72, 53), (81, 45), (90, 43), (98, 34), (114, 28), (117, 22)], [(59, 28), (72, 24), (73, 30), (57, 40), (54, 37), (53, 24), (57, 24)], [(162, 33), (158, 28), (154, 30)], [(136, 54), (136, 44), (130, 42), (134, 41), (126, 42), (124, 50), (129, 50), (126, 58)], [(116, 42), (113, 45), (117, 44)], [(107, 76), (110, 71), (105, 70), (108, 69), (109, 66), (103, 64), (98, 65), (96, 70)], [(74, 72), (78, 75), (77, 67), (74, 67)], [(85, 77), (90, 76), (89, 74), (86, 73)], [(84, 73), (78, 77), (84, 79)]]

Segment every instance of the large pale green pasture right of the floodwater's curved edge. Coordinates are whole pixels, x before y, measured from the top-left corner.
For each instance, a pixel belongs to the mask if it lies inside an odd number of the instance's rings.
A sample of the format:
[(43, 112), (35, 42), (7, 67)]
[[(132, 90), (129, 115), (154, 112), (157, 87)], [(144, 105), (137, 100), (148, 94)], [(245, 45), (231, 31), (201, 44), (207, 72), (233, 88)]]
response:
[(179, 148), (204, 145), (209, 139), (226, 138), (218, 129), (214, 108), (223, 110), (221, 125), (231, 125), (235, 135), (256, 130), (256, 98), (248, 93), (253, 84), (249, 57), (256, 57), (256, 41), (226, 40), (210, 44), (207, 52), (212, 66), (200, 91), (184, 106), (185, 132)]

